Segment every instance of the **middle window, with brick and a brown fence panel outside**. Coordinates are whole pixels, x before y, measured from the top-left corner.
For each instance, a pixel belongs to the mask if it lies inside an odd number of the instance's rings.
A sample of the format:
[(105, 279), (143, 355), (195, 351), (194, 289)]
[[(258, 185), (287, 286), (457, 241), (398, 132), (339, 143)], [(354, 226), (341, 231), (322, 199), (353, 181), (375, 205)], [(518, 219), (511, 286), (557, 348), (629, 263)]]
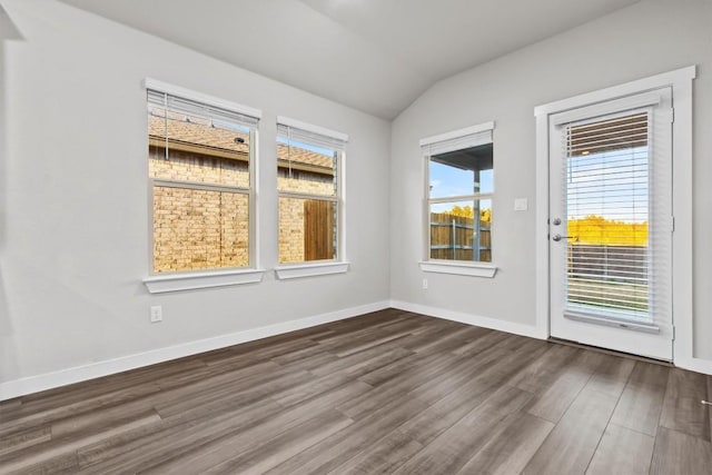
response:
[(343, 260), (339, 170), (346, 140), (340, 132), (278, 118), (279, 264)]

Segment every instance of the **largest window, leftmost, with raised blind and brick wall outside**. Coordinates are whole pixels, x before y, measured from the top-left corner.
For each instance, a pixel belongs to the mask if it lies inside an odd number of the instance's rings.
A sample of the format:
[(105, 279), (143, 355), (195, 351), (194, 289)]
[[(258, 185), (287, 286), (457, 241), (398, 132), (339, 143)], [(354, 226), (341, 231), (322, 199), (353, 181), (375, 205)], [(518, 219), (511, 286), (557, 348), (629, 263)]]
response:
[(147, 80), (154, 274), (255, 266), (259, 111), (166, 89)]

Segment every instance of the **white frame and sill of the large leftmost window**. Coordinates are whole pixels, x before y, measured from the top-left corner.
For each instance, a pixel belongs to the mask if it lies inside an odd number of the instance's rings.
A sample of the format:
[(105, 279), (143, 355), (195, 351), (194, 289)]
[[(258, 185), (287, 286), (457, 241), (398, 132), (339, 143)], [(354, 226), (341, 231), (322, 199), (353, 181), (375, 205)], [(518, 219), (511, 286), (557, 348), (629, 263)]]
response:
[[(197, 92), (190, 89), (181, 88), (179, 86), (169, 85), (167, 82), (158, 81), (151, 78), (146, 78), (144, 81), (144, 88), (146, 91), (152, 90), (157, 92), (167, 93), (170, 96), (189, 99), (195, 102), (205, 103), (206, 106), (219, 107), (233, 112), (249, 116), (255, 119), (261, 119), (261, 111), (247, 106), (241, 106), (225, 99), (208, 96), (201, 92)], [(146, 129), (145, 129), (146, 130)], [(148, 138), (147, 138), (148, 140)], [(148, 147), (146, 147), (148, 149)], [(258, 196), (258, 176), (257, 176), (257, 160), (258, 157), (258, 130), (257, 128), (250, 130), (250, 157), (249, 157), (249, 188), (222, 186), (222, 185), (207, 185), (207, 184), (194, 184), (184, 181), (174, 181), (166, 179), (151, 178), (147, 171), (148, 177), (148, 229), (154, 228), (154, 205), (152, 197), (154, 186), (167, 186), (179, 187), (190, 189), (209, 189), (216, 191), (230, 191), (238, 192), (248, 196), (248, 267), (240, 268), (216, 268), (216, 269), (200, 269), (188, 271), (175, 271), (158, 274), (154, 270), (154, 234), (149, 231), (148, 237), (148, 255), (149, 255), (149, 269), (148, 277), (144, 278), (144, 284), (150, 294), (162, 294), (169, 291), (179, 290), (192, 290), (199, 288), (224, 287), (238, 284), (254, 284), (259, 283), (265, 274), (264, 269), (259, 268), (259, 239), (257, 231), (258, 226), (258, 205), (256, 197)], [(148, 168), (148, 160), (146, 160)]]

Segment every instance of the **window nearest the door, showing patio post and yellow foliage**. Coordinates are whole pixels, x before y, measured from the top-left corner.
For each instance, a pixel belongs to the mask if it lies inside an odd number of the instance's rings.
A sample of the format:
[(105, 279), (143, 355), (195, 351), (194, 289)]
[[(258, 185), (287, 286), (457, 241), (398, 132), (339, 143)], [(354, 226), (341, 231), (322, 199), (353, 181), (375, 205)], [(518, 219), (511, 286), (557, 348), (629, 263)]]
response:
[(421, 141), (429, 260), (492, 261), (493, 127), (490, 122)]

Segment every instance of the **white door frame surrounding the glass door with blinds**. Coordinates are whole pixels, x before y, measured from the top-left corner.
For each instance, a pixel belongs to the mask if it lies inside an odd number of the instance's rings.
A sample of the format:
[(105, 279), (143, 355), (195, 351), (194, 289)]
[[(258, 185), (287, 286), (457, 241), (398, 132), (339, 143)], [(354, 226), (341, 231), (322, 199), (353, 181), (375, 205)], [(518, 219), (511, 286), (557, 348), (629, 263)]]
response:
[(712, 362), (694, 357), (692, 299), (692, 80), (696, 67), (626, 82), (624, 85), (550, 102), (534, 109), (536, 117), (536, 328), (550, 337), (548, 269), (548, 122), (550, 116), (663, 87), (672, 88), (673, 121), (673, 216), (672, 246), (673, 363), (682, 368), (712, 374)]

